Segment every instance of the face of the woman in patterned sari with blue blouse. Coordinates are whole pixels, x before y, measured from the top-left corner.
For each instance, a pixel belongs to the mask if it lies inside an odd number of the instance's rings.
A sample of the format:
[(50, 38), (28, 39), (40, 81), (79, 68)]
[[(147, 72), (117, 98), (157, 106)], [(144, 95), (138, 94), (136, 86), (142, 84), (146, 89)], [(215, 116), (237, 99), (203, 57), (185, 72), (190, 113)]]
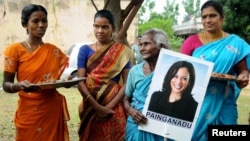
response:
[(104, 17), (97, 17), (93, 24), (95, 37), (99, 42), (108, 42), (114, 31), (109, 20)]

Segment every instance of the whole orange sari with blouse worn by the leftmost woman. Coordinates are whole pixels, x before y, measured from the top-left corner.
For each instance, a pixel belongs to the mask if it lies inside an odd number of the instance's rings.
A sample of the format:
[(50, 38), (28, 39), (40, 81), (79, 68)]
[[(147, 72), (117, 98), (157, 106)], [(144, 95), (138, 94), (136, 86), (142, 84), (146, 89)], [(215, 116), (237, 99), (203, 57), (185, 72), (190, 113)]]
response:
[[(33, 53), (20, 43), (6, 48), (4, 71), (17, 73), (17, 81), (38, 83), (58, 79), (68, 57), (56, 46), (46, 43)], [(39, 92), (19, 91), (14, 122), (17, 141), (68, 141), (66, 121), (69, 114), (65, 97), (56, 89)]]

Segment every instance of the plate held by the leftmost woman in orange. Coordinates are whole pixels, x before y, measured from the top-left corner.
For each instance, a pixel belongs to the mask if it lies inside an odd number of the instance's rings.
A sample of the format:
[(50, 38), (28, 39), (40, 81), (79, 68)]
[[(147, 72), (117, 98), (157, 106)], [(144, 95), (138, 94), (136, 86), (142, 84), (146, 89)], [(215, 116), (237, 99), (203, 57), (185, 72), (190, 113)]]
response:
[(30, 87), (39, 87), (40, 89), (55, 89), (60, 87), (69, 88), (73, 85), (76, 85), (78, 82), (85, 80), (86, 77), (75, 77), (73, 79), (61, 79), (61, 80), (49, 80), (45, 82), (39, 82), (36, 84), (30, 85)]

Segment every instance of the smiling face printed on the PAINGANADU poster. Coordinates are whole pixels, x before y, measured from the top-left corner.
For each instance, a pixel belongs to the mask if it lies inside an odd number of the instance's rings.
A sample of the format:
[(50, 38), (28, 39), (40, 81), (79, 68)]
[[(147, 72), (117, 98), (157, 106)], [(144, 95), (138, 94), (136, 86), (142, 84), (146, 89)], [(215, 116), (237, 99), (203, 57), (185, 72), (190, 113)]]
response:
[(189, 79), (188, 69), (185, 67), (180, 68), (170, 81), (172, 92), (182, 94), (188, 86)]

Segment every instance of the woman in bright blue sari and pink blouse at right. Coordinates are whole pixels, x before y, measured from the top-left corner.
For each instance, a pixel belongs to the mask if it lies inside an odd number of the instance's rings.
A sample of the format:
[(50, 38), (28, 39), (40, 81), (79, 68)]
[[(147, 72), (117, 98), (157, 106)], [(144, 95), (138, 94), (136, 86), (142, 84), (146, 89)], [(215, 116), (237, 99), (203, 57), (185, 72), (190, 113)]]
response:
[(211, 79), (201, 106), (192, 141), (206, 141), (208, 125), (237, 124), (237, 98), (246, 87), (249, 72), (246, 59), (250, 46), (235, 34), (222, 30), (224, 13), (217, 1), (201, 7), (204, 31), (189, 36), (181, 52), (214, 63), (213, 72), (237, 75), (236, 81)]

